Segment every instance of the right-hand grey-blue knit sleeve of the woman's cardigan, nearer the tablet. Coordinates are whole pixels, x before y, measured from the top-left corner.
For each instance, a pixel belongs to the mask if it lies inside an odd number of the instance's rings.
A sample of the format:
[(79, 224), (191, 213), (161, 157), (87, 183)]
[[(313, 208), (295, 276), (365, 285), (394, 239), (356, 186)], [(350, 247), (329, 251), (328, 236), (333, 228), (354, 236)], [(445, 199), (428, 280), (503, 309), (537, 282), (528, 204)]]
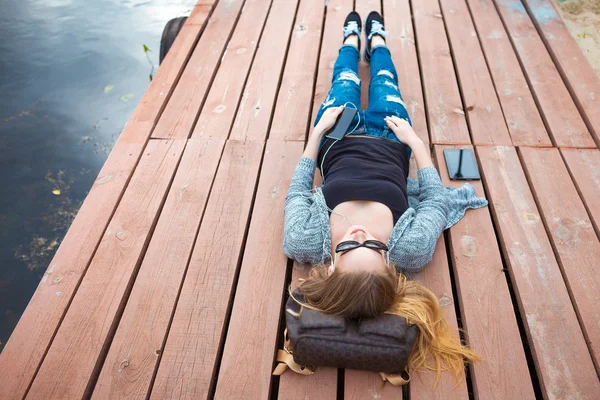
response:
[(448, 205), (437, 170), (420, 169), (418, 181), (419, 203), (413, 218), (403, 234), (390, 243), (390, 262), (400, 272), (418, 272), (429, 264), (447, 224)]

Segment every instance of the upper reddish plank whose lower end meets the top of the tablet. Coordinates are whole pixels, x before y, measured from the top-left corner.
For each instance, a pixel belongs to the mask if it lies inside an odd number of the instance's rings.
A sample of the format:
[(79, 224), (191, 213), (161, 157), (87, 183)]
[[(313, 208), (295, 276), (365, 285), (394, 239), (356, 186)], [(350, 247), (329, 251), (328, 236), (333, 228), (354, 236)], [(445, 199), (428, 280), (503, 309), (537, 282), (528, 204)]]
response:
[(446, 29), (437, 0), (412, 2), (432, 143), (469, 144), (471, 138)]

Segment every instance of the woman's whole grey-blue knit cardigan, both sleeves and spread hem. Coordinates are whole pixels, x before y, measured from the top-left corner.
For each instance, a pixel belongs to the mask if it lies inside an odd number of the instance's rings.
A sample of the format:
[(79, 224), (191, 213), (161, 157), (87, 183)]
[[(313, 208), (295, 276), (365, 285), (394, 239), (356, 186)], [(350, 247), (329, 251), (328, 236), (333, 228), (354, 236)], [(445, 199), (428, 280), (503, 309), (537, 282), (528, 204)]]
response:
[[(301, 263), (325, 264), (331, 259), (329, 212), (321, 187), (311, 187), (316, 162), (302, 157), (285, 200), (283, 252)], [(444, 229), (456, 224), (468, 208), (488, 204), (475, 188), (465, 183), (444, 188), (435, 168), (422, 168), (418, 179), (407, 183), (409, 208), (396, 222), (388, 240), (390, 262), (399, 272), (414, 273), (433, 257)]]

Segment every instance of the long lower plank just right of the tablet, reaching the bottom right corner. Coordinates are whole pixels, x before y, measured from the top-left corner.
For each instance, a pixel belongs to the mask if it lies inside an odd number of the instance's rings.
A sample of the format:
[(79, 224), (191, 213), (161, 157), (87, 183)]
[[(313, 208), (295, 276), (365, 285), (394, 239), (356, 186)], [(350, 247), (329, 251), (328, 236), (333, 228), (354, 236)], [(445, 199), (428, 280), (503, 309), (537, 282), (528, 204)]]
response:
[(552, 247), (512, 147), (477, 147), (494, 222), (546, 398), (600, 384)]

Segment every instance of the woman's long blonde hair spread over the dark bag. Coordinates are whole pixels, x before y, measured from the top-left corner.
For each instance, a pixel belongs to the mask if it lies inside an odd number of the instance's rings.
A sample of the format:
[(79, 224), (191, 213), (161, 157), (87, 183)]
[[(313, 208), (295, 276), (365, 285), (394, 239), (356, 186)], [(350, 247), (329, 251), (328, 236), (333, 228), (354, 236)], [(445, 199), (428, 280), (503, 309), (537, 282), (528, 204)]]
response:
[[(419, 329), (415, 347), (408, 359), (406, 372), (436, 372), (434, 388), (442, 371), (454, 374), (457, 383), (465, 376), (465, 361), (477, 361), (479, 355), (463, 346), (442, 311), (437, 297), (416, 281), (408, 280), (394, 266), (384, 271), (343, 272), (335, 269), (327, 274), (327, 266), (312, 268), (307, 279), (301, 279), (298, 290), (307, 308), (345, 317), (374, 317), (383, 313), (406, 319)], [(385, 372), (385, 371), (382, 371)]]

